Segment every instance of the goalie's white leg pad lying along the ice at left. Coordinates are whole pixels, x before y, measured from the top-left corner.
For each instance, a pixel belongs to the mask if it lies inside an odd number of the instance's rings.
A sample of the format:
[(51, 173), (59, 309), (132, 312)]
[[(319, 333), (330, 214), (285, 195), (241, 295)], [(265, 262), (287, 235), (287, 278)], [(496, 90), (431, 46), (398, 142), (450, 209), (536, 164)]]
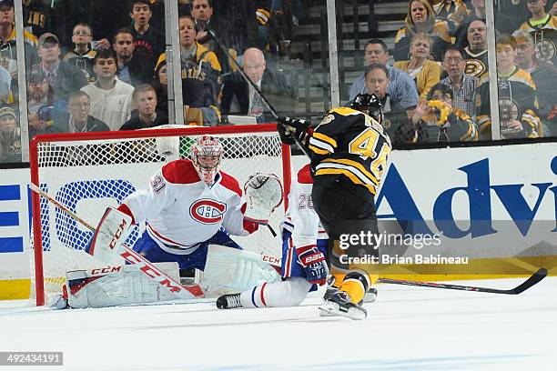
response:
[[(178, 278), (177, 263), (157, 263), (169, 276)], [(67, 304), (72, 308), (126, 306), (177, 299), (177, 296), (133, 266), (70, 271), (66, 274)]]

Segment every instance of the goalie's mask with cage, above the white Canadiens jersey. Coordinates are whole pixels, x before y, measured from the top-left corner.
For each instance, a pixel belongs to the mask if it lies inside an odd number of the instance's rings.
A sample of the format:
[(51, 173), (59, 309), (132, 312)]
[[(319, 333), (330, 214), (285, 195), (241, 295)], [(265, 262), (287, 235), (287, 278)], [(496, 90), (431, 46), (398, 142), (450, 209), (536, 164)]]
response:
[(191, 162), (201, 180), (208, 186), (215, 183), (223, 148), (217, 138), (204, 135), (191, 148)]

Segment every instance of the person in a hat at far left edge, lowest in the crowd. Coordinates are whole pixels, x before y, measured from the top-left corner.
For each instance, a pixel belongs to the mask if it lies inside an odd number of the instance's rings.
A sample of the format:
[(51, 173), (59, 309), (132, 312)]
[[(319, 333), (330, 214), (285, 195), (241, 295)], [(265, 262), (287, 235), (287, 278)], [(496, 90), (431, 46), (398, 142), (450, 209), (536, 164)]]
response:
[(0, 163), (21, 162), (21, 130), (10, 105), (0, 105)]

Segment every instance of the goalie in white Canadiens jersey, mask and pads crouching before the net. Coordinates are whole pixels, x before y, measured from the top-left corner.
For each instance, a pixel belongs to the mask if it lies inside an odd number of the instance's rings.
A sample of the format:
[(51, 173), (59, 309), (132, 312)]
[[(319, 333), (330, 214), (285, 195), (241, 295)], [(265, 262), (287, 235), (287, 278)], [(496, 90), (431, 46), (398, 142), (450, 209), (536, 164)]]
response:
[[(203, 272), (201, 288), (218, 296), (279, 279), (261, 256), (242, 249), (232, 236), (248, 236), (267, 225), (282, 202), (276, 175), (256, 174), (244, 186), (220, 170), (223, 147), (218, 139), (203, 136), (195, 142), (189, 159), (163, 165), (117, 208), (108, 207), (89, 246), (89, 253), (108, 262), (123, 244), (133, 225), (146, 223), (133, 250), (149, 262), (161, 264), (169, 276), (195, 268)], [(114, 254), (116, 256), (116, 254)], [(68, 272), (67, 306), (102, 307), (169, 300), (157, 283), (133, 266)], [(60, 304), (57, 305), (60, 307)]]

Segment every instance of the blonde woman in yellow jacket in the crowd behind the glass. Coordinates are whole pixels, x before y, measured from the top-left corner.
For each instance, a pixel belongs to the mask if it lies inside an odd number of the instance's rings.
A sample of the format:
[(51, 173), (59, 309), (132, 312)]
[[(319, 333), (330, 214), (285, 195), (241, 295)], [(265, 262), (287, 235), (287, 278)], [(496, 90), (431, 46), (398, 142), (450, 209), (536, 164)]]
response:
[(431, 86), (439, 83), (441, 65), (428, 59), (431, 51), (430, 36), (420, 32), (410, 42), (410, 61), (395, 62), (394, 66), (414, 79), (420, 99), (425, 99)]

